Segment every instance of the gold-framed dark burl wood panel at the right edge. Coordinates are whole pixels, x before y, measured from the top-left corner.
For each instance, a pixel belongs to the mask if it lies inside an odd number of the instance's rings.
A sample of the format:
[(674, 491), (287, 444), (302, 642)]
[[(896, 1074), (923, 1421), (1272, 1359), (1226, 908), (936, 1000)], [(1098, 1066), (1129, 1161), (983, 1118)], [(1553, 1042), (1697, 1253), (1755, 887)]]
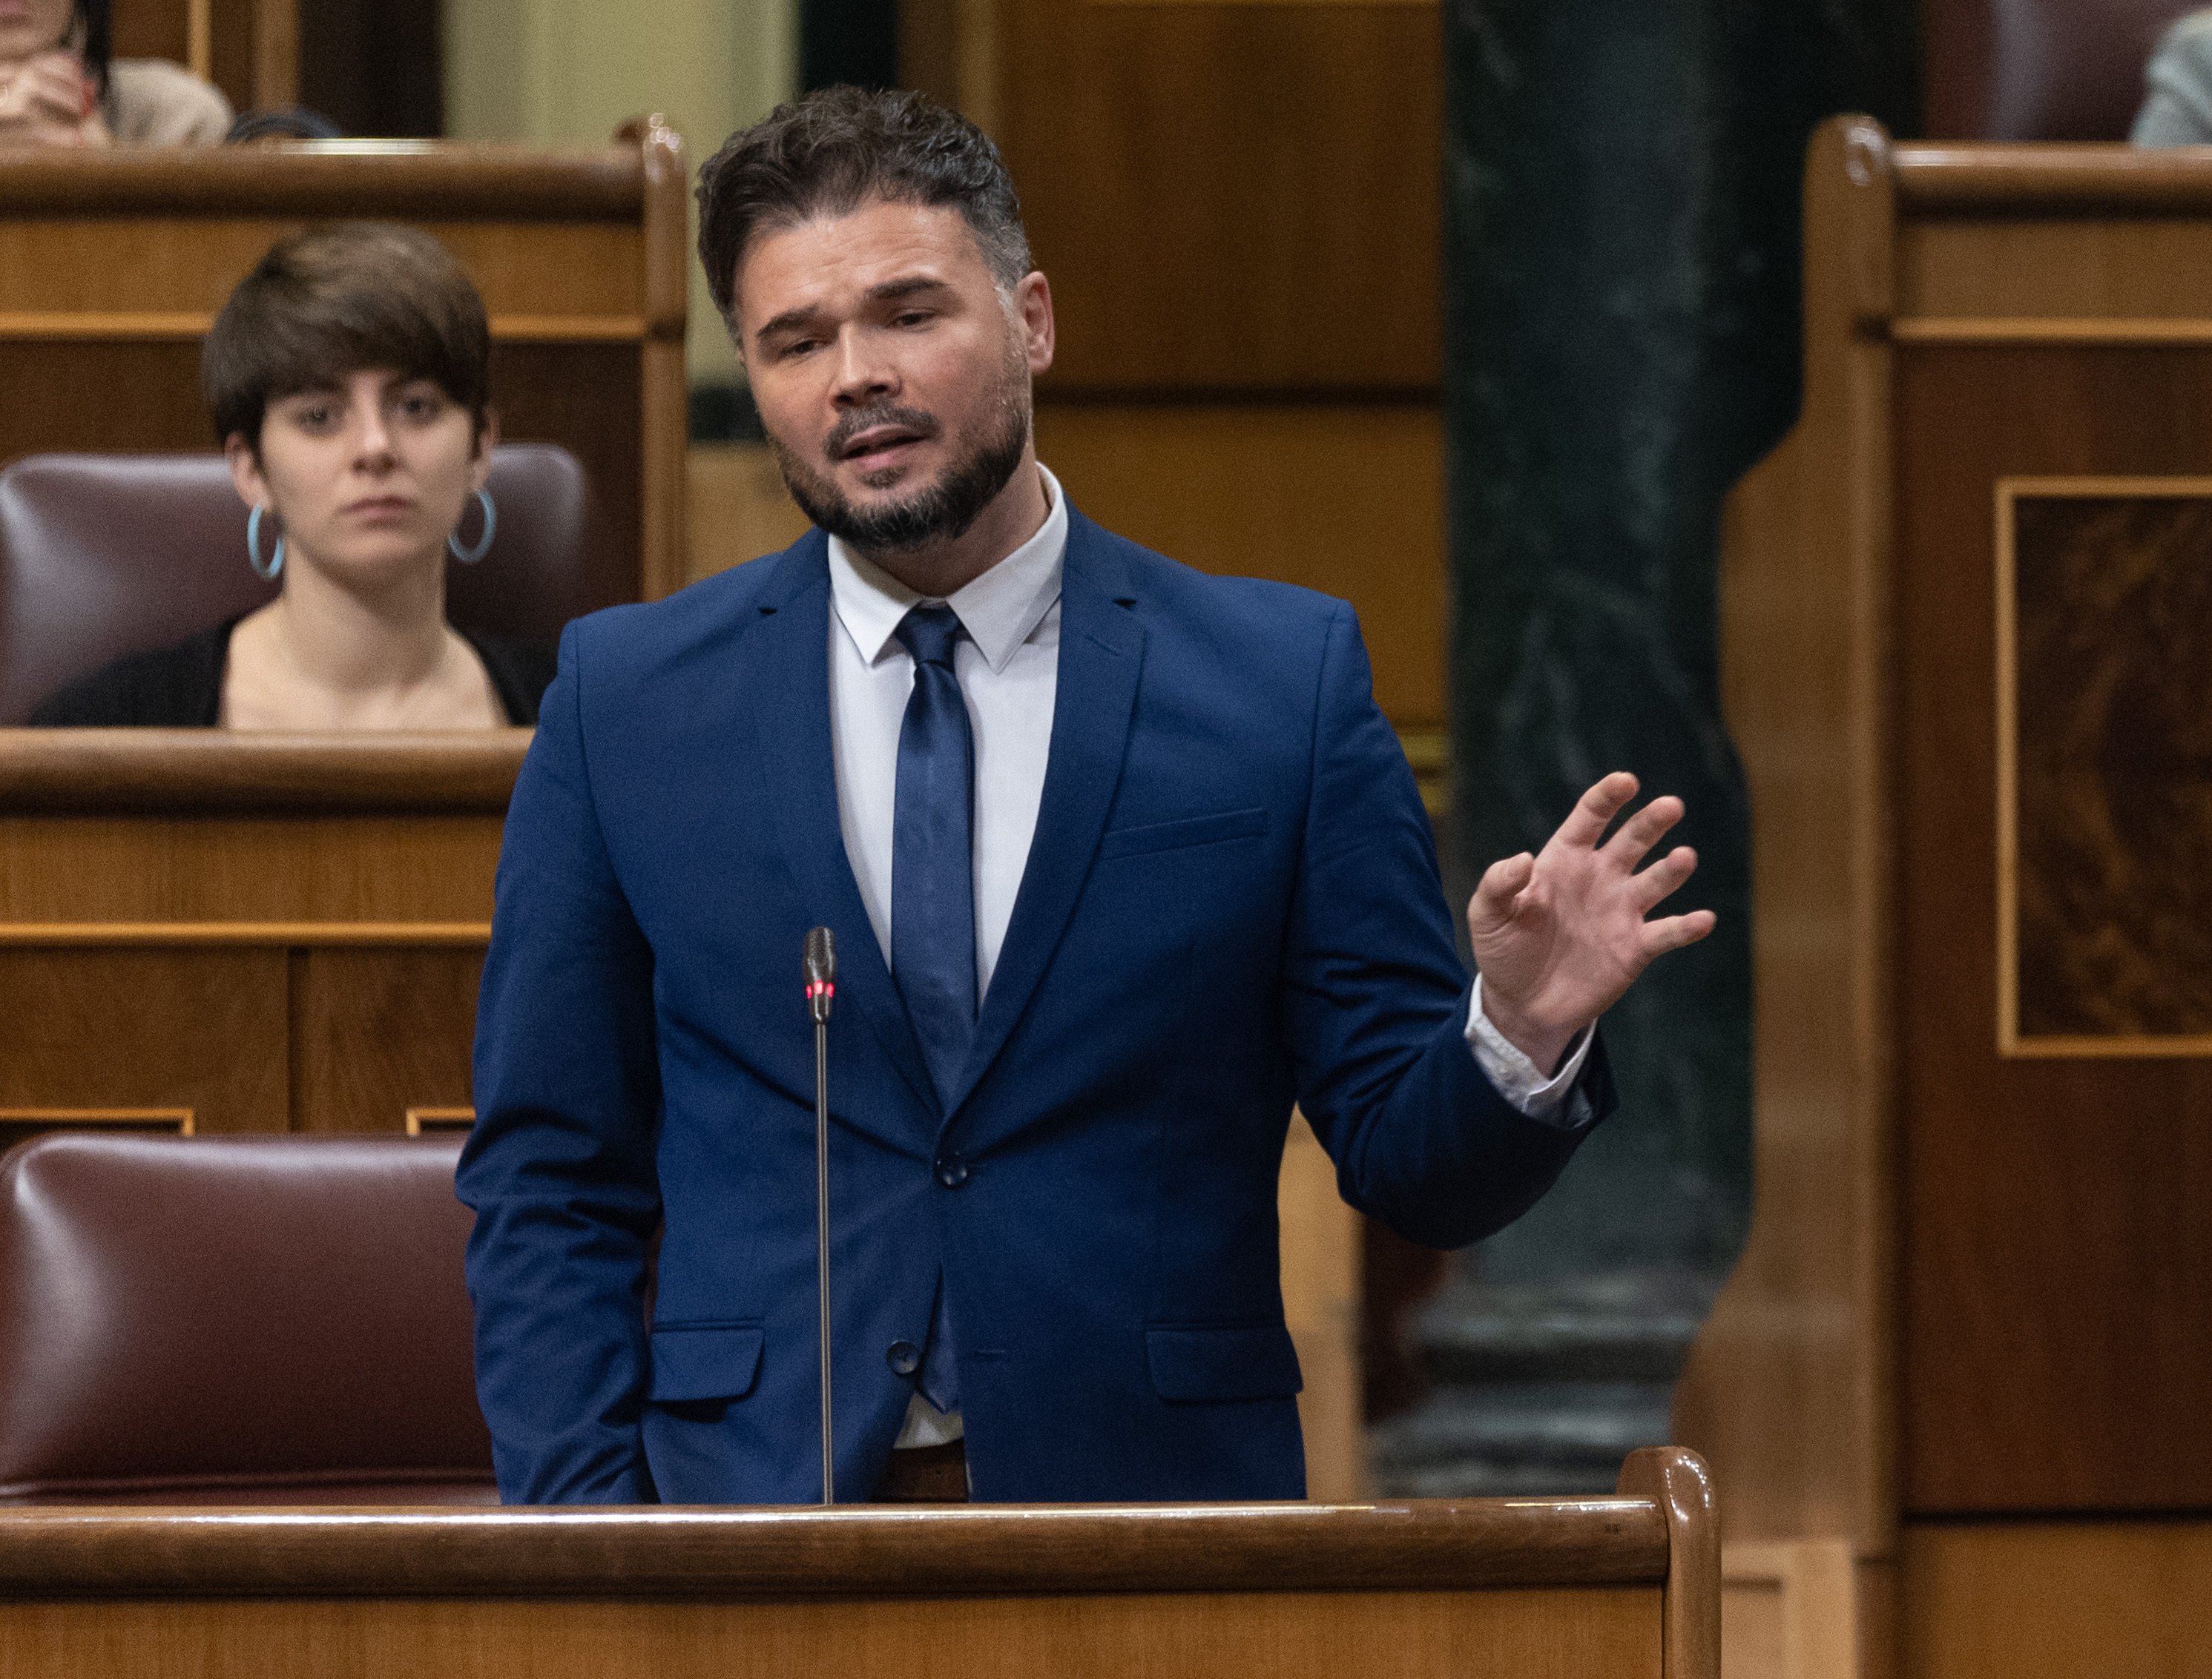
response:
[[(2024, 504), (2070, 507), (2053, 520), (2053, 531), (2037, 529), (2024, 544)], [(2028, 520), (2042, 526), (2044, 509)], [(2194, 918), (2172, 914), (2161, 896), (2161, 887), (2183, 885), (2188, 869), (2174, 867), (2172, 854), (2143, 849), (2152, 830), (2181, 834), (2183, 845), (2199, 832), (2212, 863), (2212, 825), (2128, 821), (2130, 812), (2115, 810), (2112, 796), (2119, 785), (2157, 799), (2172, 781), (2157, 768), (2185, 772), (2192, 761), (2185, 723), (2157, 703), (2130, 710), (2130, 697), (2143, 695), (2141, 659), (2130, 670), (2128, 648), (2097, 637), (2121, 622), (2143, 624), (2148, 608), (2174, 606), (2177, 584), (2159, 575), (2161, 557), (2201, 557), (2183, 564), (2179, 586), (2212, 591), (2212, 478), (2000, 478), (1995, 524), (1997, 1053), (2212, 1055), (2212, 936), (2201, 940), (2201, 960), (2188, 960), (2199, 942), (2190, 931)], [(2026, 582), (2024, 564), (2035, 573)], [(2066, 582), (2077, 584), (2070, 595)], [(2148, 595), (2157, 588), (2166, 595)], [(2157, 633), (2163, 615), (2148, 611), (2148, 617)], [(2201, 622), (2190, 624), (2190, 639), (2203, 639)], [(2035, 646), (2024, 648), (2024, 639)], [(2024, 672), (2024, 664), (2035, 668)], [(2024, 703), (2037, 708), (2028, 743)], [(2051, 728), (2051, 712), (2064, 712), (2062, 730)], [(2062, 757), (2068, 761), (2059, 763)], [(2117, 783), (2097, 774), (2115, 757), (2141, 774)], [(2174, 796), (2192, 799), (2188, 790)], [(2022, 799), (2037, 803), (2033, 818), (2022, 816)], [(2161, 867), (2163, 880), (2152, 878)], [(2130, 900), (2130, 883), (2148, 885), (2157, 900)], [(2026, 1000), (2024, 964), (2037, 976)], [(2046, 980), (2053, 973), (2057, 980)], [(2062, 995), (2068, 987), (2070, 998)], [(2101, 987), (2101, 998), (2088, 998), (2084, 987)], [(2108, 1024), (2090, 1029), (2093, 1013)], [(2157, 1029), (2152, 1018), (2170, 1024)]]

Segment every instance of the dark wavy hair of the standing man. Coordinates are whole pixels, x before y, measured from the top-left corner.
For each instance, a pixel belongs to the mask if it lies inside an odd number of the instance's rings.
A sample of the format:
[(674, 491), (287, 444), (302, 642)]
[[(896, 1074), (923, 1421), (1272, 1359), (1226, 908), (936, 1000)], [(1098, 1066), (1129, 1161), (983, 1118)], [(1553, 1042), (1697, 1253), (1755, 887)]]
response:
[(1029, 272), (1022, 201), (998, 146), (920, 93), (836, 86), (779, 104), (699, 168), (699, 261), (728, 321), (752, 237), (867, 199), (949, 204), (967, 217), (1002, 292)]

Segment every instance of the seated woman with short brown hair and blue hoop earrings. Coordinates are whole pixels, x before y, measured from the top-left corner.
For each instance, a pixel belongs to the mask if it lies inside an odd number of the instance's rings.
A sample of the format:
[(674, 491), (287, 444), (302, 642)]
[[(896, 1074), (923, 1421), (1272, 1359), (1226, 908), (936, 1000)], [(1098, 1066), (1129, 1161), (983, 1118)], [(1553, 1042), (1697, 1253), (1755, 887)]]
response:
[(49, 726), (458, 730), (535, 723), (544, 648), (445, 622), (445, 562), (482, 557), (498, 416), (491, 332), (429, 234), (352, 221), (274, 246), (230, 294), (201, 385), (252, 509), (268, 606), (117, 659)]

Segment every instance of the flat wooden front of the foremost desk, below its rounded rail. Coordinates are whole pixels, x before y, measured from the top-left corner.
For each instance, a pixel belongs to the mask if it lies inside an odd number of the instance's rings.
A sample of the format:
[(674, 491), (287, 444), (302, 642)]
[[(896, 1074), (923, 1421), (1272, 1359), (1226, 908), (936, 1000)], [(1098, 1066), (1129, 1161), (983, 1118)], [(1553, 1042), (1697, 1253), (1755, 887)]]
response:
[(0, 1679), (1655, 1679), (1657, 1593), (9, 1604)]

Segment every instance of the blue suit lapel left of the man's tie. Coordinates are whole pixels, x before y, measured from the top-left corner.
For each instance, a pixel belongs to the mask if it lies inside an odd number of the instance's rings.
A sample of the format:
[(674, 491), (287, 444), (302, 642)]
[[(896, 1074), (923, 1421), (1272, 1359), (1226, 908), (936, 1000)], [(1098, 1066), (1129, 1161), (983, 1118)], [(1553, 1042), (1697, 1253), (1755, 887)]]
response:
[[(860, 903), (860, 887), (845, 856), (836, 814), (836, 750), (830, 741), (830, 560), (827, 540), (810, 531), (781, 564), (790, 584), (759, 608), (752, 628), (759, 659), (745, 668), (757, 686), (750, 697), (759, 719), (761, 761), (768, 765), (770, 803), (783, 861), (799, 883), (807, 916), (836, 938), (838, 1002), (867, 1018), (869, 1029), (914, 1088), (927, 1113), (938, 1110), (922, 1049), (907, 1022), (907, 1007), (891, 984), (876, 929)], [(799, 995), (799, 945), (792, 945), (792, 995)]]

